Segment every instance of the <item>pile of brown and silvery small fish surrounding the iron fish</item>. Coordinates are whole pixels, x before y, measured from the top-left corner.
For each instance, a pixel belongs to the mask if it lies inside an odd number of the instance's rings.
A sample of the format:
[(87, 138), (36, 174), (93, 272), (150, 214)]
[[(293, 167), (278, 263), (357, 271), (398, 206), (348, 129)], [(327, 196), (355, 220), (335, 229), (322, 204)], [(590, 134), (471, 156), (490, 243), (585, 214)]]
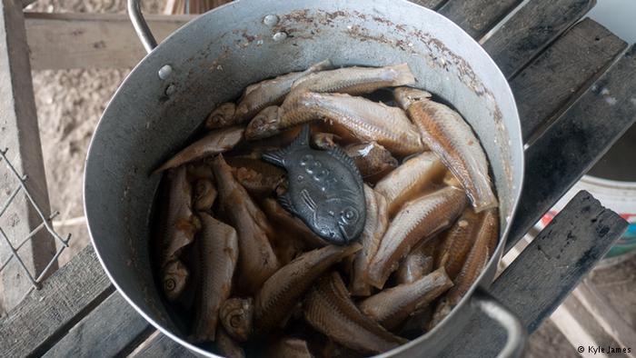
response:
[[(228, 357), (383, 353), (440, 323), (488, 263), (498, 204), (470, 125), (409, 87), (408, 65), (330, 67), (249, 85), (155, 171), (154, 264), (191, 342)], [(263, 154), (299, 135), (363, 177), (352, 244), (281, 204), (288, 175)]]

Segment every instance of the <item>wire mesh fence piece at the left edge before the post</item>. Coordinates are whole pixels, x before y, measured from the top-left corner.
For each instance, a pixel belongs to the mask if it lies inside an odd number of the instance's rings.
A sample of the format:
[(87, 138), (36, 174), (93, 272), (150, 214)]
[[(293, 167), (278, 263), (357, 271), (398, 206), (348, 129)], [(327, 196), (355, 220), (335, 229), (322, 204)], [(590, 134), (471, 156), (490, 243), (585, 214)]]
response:
[[(31, 288), (29, 290), (27, 290), (27, 292), (25, 292), (25, 296), (26, 296), (27, 294), (31, 293), (31, 291), (33, 291), (33, 289), (39, 289), (41, 287), (42, 280), (44, 280), (44, 278), (46, 277), (46, 273), (48, 273), (51, 270), (51, 267), (53, 267), (54, 264), (57, 262), (57, 258), (60, 256), (60, 254), (62, 254), (64, 249), (66, 247), (68, 247), (68, 241), (71, 239), (71, 234), (68, 234), (68, 236), (66, 236), (66, 238), (64, 239), (59, 234), (57, 234), (55, 232), (55, 230), (53, 228), (53, 224), (51, 224), (51, 223), (52, 223), (52, 220), (55, 218), (55, 216), (57, 214), (59, 214), (59, 212), (55, 212), (55, 213), (51, 214), (48, 217), (45, 216), (45, 214), (43, 213), (42, 209), (39, 207), (39, 205), (37, 203), (35, 203), (35, 200), (33, 199), (33, 196), (31, 195), (31, 193), (29, 193), (29, 190), (26, 188), (25, 183), (26, 183), (26, 181), (28, 179), (27, 175), (19, 174), (17, 172), (17, 170), (15, 170), (14, 165), (11, 164), (11, 162), (9, 161), (9, 158), (7, 158), (7, 156), (6, 156), (7, 152), (8, 152), (8, 148), (5, 148), (5, 150), (0, 150), (0, 162), (5, 162), (5, 165), (9, 169), (9, 172), (12, 173), (15, 176), (15, 179), (17, 179), (17, 184), (15, 185), (15, 189), (13, 191), (11, 191), (11, 194), (9, 194), (9, 196), (6, 198), (5, 203), (3, 203), (2, 206), (0, 206), (0, 217), (2, 217), (2, 215), (6, 213), (7, 209), (10, 207), (11, 203), (14, 202), (15, 197), (17, 196), (17, 194), (22, 192), (22, 193), (25, 194), (25, 197), (28, 199), (29, 203), (31, 205), (33, 205), (33, 207), (35, 208), (35, 212), (40, 216), (40, 219), (42, 220), (41, 224), (37, 225), (35, 227), (35, 229), (33, 229), (31, 231), (31, 233), (27, 234), (19, 242), (19, 244), (15, 245), (15, 246), (13, 244), (11, 244), (12, 241), (5, 234), (5, 231), (3, 230), (3, 228), (0, 227), (0, 236), (2, 237), (0, 239), (0, 241), (4, 241), (5, 244), (8, 245), (9, 251), (10, 251), (9, 257), (5, 260), (4, 263), (0, 264), (0, 272), (2, 272), (2, 270), (5, 269), (7, 264), (9, 264), (13, 259), (15, 259), (17, 261), (17, 263), (20, 265), (20, 267), (22, 267), (22, 269), (25, 272), (26, 276), (28, 277), (29, 281), (32, 283)], [(39, 274), (31, 273), (28, 270), (28, 268), (26, 267), (26, 264), (24, 263), (24, 261), (22, 260), (20, 255), (18, 254), (18, 251), (29, 240), (31, 240), (35, 236), (35, 234), (39, 233), (43, 228), (45, 228), (46, 231), (55, 238), (55, 240), (59, 241), (61, 243), (61, 245), (60, 245), (60, 248), (58, 250), (56, 250), (55, 256), (45, 266), (45, 269), (42, 270), (41, 273), (39, 273)], [(23, 297), (23, 299), (24, 299), (24, 297)]]

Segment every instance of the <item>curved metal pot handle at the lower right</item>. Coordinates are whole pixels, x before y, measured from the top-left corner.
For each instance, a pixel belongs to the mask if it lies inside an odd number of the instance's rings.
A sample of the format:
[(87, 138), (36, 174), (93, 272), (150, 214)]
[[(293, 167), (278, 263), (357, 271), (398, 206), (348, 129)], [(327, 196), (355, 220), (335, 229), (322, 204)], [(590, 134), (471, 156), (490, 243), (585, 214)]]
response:
[(490, 293), (478, 287), (472, 295), (472, 305), (486, 314), (493, 321), (499, 323), (506, 331), (506, 344), (498, 358), (517, 358), (522, 355), (528, 333), (519, 318), (502, 303), (492, 297)]

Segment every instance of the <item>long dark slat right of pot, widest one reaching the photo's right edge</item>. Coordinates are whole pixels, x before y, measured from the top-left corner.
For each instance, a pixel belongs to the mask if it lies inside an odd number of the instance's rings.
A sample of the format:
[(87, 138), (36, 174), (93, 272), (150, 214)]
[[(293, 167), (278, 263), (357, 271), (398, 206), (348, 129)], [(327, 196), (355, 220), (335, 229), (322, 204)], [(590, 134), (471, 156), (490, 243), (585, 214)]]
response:
[(525, 152), (526, 177), (506, 251), (590, 170), (636, 121), (636, 47), (588, 89)]

